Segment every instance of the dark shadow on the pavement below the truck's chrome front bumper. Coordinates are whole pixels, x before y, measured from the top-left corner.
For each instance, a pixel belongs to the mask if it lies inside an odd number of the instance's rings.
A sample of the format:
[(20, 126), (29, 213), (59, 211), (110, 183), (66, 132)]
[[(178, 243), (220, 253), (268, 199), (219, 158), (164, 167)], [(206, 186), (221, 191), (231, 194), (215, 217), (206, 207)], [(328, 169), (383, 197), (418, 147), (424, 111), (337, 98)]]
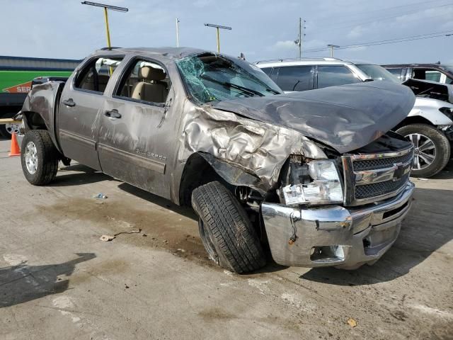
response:
[(355, 271), (313, 268), (300, 278), (333, 285), (369, 285), (406, 275), (453, 239), (452, 196), (453, 191), (416, 188), (398, 239), (373, 266)]

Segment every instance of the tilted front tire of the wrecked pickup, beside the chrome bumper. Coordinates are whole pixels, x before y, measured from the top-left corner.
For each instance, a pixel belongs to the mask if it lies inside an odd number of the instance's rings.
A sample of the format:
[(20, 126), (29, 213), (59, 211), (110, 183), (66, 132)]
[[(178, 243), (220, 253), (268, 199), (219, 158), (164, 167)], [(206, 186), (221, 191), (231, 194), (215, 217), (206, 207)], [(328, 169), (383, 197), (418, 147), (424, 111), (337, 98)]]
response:
[(265, 266), (260, 239), (246, 211), (221, 183), (195, 188), (192, 206), (199, 216), (200, 237), (210, 259), (234, 273)]

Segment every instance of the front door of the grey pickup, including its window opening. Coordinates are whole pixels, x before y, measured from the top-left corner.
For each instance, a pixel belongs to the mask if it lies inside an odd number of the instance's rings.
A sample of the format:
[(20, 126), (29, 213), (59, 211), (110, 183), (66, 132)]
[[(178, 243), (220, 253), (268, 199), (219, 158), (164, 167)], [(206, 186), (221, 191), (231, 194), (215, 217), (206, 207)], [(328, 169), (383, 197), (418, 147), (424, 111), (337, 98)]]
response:
[[(98, 154), (105, 174), (169, 197), (166, 143), (171, 112), (170, 79), (157, 62), (135, 59), (127, 67), (112, 98), (105, 101)], [(173, 122), (174, 123), (174, 122)]]

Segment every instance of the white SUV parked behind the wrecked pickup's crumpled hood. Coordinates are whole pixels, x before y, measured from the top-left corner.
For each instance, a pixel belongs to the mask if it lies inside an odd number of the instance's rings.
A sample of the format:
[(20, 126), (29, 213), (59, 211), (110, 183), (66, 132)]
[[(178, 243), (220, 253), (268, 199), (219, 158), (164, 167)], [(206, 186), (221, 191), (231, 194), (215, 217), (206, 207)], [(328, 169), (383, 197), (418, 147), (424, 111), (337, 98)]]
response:
[[(360, 83), (364, 81), (399, 82), (379, 65), (347, 62), (336, 58), (303, 60), (274, 60), (256, 63), (285, 91), (306, 91), (326, 86)], [(410, 83), (410, 84), (409, 84)], [(429, 83), (429, 82), (428, 82)], [(428, 84), (425, 82), (425, 84)], [(415, 177), (431, 177), (445, 168), (452, 157), (453, 145), (453, 97), (445, 96), (451, 85), (406, 81), (417, 98), (408, 116), (392, 127), (415, 145), (412, 174)], [(418, 91), (421, 86), (425, 91)], [(439, 95), (439, 91), (443, 95)]]

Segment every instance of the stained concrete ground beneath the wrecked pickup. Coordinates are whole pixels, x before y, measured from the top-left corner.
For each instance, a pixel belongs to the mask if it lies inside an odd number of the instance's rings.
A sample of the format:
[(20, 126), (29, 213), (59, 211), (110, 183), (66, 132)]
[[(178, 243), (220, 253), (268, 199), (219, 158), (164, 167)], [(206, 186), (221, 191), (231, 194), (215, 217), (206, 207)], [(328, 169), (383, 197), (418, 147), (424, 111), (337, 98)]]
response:
[(451, 163), (413, 180), (412, 213), (374, 266), (239, 276), (207, 260), (190, 209), (77, 164), (30, 186), (8, 149), (0, 339), (453, 339)]

